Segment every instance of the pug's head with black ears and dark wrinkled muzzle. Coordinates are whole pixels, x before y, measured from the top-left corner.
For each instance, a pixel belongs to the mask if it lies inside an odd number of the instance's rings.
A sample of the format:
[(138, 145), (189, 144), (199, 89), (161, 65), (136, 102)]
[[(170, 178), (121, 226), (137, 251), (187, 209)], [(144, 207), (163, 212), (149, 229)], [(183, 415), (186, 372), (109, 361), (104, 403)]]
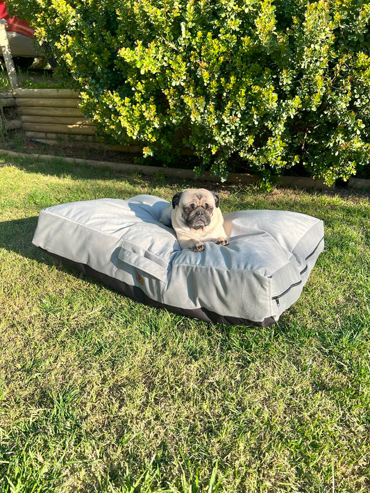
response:
[(173, 197), (172, 207), (178, 207), (178, 215), (186, 226), (194, 230), (205, 230), (215, 217), (219, 196), (205, 188), (188, 188)]

